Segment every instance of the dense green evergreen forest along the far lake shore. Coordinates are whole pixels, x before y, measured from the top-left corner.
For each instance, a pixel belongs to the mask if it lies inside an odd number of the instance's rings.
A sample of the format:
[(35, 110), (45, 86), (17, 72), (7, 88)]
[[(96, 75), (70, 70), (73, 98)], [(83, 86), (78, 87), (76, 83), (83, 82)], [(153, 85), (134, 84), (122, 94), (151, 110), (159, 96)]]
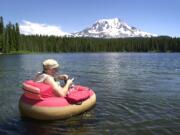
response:
[(20, 34), (18, 23), (0, 17), (0, 52), (180, 52), (180, 38), (84, 38)]

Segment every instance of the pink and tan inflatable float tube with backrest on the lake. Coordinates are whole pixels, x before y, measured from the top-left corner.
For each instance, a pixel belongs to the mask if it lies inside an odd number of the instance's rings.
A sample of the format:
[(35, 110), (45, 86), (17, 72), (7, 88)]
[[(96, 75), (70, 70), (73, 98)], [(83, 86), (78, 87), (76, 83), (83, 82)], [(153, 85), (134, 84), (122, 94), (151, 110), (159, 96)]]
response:
[(65, 119), (89, 110), (96, 103), (94, 91), (80, 85), (72, 87), (66, 97), (57, 97), (50, 86), (32, 80), (23, 83), (23, 90), (20, 113), (34, 119)]

